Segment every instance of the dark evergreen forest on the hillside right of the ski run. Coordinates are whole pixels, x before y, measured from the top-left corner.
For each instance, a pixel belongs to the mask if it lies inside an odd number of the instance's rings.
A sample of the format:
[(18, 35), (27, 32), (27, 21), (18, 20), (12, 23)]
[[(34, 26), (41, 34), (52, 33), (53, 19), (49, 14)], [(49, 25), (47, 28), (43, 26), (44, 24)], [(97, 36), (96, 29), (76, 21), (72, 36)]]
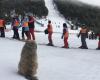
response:
[(100, 8), (75, 0), (54, 0), (58, 10), (66, 19), (77, 20), (75, 25), (85, 24), (95, 33), (100, 33)]

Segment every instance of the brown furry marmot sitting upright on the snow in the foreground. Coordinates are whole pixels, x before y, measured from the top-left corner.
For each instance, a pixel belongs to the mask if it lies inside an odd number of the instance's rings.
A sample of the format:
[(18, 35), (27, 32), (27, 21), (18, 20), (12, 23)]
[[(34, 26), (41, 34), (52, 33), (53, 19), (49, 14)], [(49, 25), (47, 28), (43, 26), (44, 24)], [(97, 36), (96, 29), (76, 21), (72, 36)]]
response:
[(21, 52), (18, 73), (26, 78), (33, 78), (37, 67), (37, 44), (35, 41), (27, 41)]

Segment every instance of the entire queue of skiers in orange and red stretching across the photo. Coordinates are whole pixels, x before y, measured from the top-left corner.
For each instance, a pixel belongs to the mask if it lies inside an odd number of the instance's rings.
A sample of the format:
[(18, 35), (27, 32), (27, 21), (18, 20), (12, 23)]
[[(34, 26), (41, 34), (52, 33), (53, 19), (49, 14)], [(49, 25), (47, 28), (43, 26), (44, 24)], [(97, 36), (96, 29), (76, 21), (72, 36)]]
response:
[[(18, 16), (15, 16), (12, 19), (12, 24), (11, 24), (11, 28), (13, 30), (12, 38), (20, 40), (18, 29), (20, 27), (22, 27), (22, 40), (25, 40), (25, 35), (27, 37), (27, 40), (35, 40), (35, 34), (34, 34), (34, 32), (35, 32), (34, 31), (35, 21), (36, 20), (33, 16), (26, 16), (25, 15), (22, 18), (21, 21), (19, 20)], [(5, 22), (4, 19), (0, 19), (0, 37), (5, 37), (5, 29), (6, 29), (5, 23), (6, 22)], [(63, 23), (62, 26), (63, 26), (63, 30), (62, 30), (61, 38), (63, 39), (63, 42), (64, 42), (64, 46), (62, 46), (62, 48), (69, 48), (69, 44), (68, 44), (68, 37), (69, 37), (68, 27), (67, 27), (66, 23)], [(52, 26), (52, 22), (50, 20), (48, 21), (47, 28), (44, 32), (45, 32), (45, 34), (48, 34), (49, 43), (47, 45), (54, 46), (53, 40), (52, 40), (53, 26)], [(81, 49), (88, 49), (87, 43), (86, 43), (86, 38), (88, 37), (88, 32), (89, 32), (89, 29), (86, 27), (86, 25), (82, 25), (81, 30), (78, 34), (78, 37), (81, 36), (81, 43), (82, 44), (79, 47)], [(99, 37), (97, 49), (100, 50), (100, 34), (97, 34), (96, 36)]]

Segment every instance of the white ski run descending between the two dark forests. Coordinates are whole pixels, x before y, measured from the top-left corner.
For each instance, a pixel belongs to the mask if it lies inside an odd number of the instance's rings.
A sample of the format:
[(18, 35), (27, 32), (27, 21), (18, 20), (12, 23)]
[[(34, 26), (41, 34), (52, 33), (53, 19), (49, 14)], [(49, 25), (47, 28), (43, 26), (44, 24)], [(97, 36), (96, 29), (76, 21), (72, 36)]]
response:
[(57, 11), (53, 0), (45, 0), (45, 4), (49, 10), (45, 26), (47, 25), (48, 20), (51, 20), (53, 25), (53, 31), (62, 32), (62, 24), (66, 22), (65, 18)]

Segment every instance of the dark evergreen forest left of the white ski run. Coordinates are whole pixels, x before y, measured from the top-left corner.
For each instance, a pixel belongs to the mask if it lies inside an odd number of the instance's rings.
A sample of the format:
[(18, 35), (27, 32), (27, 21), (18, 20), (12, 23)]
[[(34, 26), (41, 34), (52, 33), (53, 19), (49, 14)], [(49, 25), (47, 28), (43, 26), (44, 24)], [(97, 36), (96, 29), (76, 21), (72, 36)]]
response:
[(13, 10), (16, 14), (30, 12), (37, 17), (48, 14), (44, 0), (0, 0), (0, 17), (10, 17)]

